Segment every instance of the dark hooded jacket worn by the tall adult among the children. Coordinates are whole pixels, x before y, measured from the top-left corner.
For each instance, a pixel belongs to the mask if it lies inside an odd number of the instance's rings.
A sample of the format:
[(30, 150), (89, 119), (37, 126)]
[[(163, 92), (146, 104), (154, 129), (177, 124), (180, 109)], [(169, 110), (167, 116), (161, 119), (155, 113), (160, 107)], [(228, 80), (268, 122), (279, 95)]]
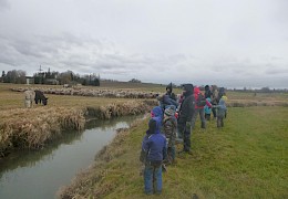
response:
[(184, 100), (181, 104), (178, 123), (191, 122), (195, 112), (195, 98), (193, 95), (193, 85), (185, 84), (184, 85)]

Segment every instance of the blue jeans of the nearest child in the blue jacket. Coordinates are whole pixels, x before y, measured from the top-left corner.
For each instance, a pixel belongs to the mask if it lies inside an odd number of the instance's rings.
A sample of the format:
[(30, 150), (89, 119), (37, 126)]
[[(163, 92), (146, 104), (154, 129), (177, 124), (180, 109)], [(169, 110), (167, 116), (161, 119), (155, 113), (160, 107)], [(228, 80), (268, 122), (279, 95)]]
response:
[(155, 193), (162, 191), (162, 165), (153, 165), (150, 161), (145, 165), (144, 170), (144, 186), (145, 193), (152, 195), (153, 188)]

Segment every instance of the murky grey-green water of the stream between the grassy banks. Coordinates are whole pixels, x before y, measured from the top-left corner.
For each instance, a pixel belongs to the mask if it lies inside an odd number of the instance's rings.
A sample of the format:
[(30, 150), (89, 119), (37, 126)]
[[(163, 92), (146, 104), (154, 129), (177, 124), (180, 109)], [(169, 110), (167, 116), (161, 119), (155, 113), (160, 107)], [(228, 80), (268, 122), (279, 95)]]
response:
[(91, 121), (84, 132), (65, 133), (44, 149), (13, 153), (0, 161), (0, 198), (56, 198), (59, 188), (93, 163), (116, 129), (127, 127), (134, 119), (135, 116)]

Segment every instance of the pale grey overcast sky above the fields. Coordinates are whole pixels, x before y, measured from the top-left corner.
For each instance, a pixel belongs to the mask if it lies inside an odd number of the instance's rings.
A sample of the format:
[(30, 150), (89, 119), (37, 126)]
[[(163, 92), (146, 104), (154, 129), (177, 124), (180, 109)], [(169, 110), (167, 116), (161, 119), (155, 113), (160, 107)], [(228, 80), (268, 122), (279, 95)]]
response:
[(0, 0), (0, 70), (288, 87), (287, 0)]

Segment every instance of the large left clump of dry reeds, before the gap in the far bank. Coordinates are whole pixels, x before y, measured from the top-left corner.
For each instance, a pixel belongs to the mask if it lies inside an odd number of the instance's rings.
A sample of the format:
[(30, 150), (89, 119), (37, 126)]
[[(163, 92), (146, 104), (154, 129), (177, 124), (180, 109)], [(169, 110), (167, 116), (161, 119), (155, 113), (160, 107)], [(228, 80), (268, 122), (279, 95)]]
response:
[(61, 135), (62, 129), (82, 129), (83, 112), (65, 107), (1, 111), (0, 153), (10, 148), (40, 148)]

